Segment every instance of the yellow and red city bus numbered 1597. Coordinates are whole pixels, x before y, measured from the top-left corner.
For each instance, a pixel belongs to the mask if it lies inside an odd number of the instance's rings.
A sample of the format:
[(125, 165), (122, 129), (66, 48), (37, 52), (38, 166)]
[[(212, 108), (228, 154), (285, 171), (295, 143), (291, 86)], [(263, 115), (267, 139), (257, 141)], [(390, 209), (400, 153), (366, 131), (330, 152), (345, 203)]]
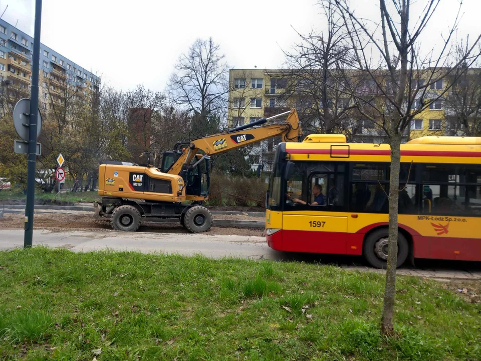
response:
[[(280, 143), (266, 201), (269, 246), (363, 255), (385, 268), (390, 148), (312, 134)], [(406, 259), (481, 261), (481, 137), (401, 145), (398, 266)]]

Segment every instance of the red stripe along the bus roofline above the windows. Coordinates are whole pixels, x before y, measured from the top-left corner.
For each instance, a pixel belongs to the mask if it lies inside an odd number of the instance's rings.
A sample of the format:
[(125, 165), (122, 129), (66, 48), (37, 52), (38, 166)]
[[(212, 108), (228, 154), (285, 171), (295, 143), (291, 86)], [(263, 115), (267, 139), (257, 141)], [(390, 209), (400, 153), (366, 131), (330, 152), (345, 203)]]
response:
[[(390, 150), (375, 149), (286, 149), (291, 154), (333, 154), (333, 155), (390, 155)], [(447, 156), (481, 157), (481, 152), (438, 151), (438, 150), (401, 150), (402, 156)]]

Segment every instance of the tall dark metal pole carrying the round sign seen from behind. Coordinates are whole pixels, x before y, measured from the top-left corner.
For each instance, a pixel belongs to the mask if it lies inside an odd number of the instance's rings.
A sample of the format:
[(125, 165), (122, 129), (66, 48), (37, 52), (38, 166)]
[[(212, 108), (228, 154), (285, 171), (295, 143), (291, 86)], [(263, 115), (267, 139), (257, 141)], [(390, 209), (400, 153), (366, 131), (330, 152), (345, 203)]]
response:
[(35, 203), (35, 162), (37, 158), (37, 116), (39, 113), (39, 62), (42, 0), (35, 1), (34, 54), (32, 56), (32, 84), (30, 92), (29, 155), (27, 175), (27, 206), (25, 208), (24, 248), (32, 247)]

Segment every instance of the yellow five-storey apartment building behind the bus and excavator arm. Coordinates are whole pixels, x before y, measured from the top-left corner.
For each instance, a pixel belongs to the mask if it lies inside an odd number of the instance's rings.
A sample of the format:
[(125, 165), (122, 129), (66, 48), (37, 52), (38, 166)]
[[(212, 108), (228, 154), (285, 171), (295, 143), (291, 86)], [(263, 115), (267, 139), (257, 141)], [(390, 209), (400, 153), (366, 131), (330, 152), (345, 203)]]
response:
[[(281, 112), (296, 108), (303, 122), (305, 115), (306, 97), (303, 97), (303, 79), (297, 79), (297, 84), (289, 84), (287, 71), (281, 69), (232, 69), (229, 73), (229, 107), (227, 121), (229, 126), (247, 124), (262, 117), (269, 117)], [(356, 76), (355, 73), (354, 77)], [(360, 95), (372, 95), (372, 98), (379, 96), (376, 86), (371, 79), (356, 79), (356, 93)], [(387, 83), (387, 81), (386, 81)], [(419, 81), (423, 85), (423, 80)], [(386, 84), (388, 87), (389, 84)], [(440, 93), (446, 86), (445, 80), (439, 80), (431, 84), (429, 93)], [(342, 87), (338, 84), (338, 87)], [(332, 89), (337, 88), (332, 86)], [(336, 115), (349, 107), (350, 100), (345, 98), (343, 92), (333, 92), (332, 99), (328, 99), (331, 111)], [(344, 95), (344, 97), (343, 97)], [(309, 94), (313, 97), (313, 93)], [(352, 102), (352, 101), (351, 101)], [(312, 104), (311, 104), (312, 105)], [(308, 106), (309, 107), (309, 106)], [(412, 104), (412, 109), (419, 107), (419, 101)], [(304, 123), (304, 122), (303, 122)], [(448, 127), (445, 121), (445, 109), (442, 100), (436, 101), (430, 107), (416, 116), (410, 124), (410, 129), (406, 130), (404, 139), (417, 138), (425, 135), (453, 135), (448, 134)], [(324, 124), (310, 123), (309, 129), (304, 127), (305, 132), (321, 132)], [(349, 134), (349, 138), (354, 142), (375, 142), (381, 143), (385, 140), (382, 129), (376, 128), (371, 121), (363, 119), (363, 116), (354, 111), (349, 112), (349, 116), (343, 120), (343, 128), (333, 129), (333, 132), (342, 131)], [(249, 160), (253, 169), (259, 163), (265, 164), (265, 170), (270, 170), (272, 156), (275, 151), (277, 139), (264, 141), (255, 146), (249, 155)]]

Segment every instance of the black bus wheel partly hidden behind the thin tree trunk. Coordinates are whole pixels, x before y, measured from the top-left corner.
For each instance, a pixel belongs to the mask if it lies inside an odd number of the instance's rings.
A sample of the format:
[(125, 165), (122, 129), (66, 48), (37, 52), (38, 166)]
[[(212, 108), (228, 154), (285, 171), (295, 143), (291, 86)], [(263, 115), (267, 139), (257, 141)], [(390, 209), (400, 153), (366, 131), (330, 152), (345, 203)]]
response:
[[(389, 233), (387, 228), (372, 232), (364, 240), (363, 254), (367, 262), (373, 267), (386, 269)], [(406, 262), (409, 254), (409, 244), (402, 233), (397, 233), (397, 267)]]

